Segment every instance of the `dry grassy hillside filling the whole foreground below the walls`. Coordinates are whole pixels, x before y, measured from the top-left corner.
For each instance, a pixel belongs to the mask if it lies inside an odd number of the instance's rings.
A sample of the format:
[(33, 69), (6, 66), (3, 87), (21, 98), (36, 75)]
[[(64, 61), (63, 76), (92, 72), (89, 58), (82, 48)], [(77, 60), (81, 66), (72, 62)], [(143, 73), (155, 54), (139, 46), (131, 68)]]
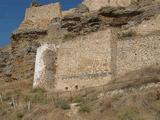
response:
[[(32, 89), (31, 81), (1, 80), (0, 119), (159, 120), (160, 88), (147, 88), (148, 84), (158, 84), (159, 72), (156, 68), (133, 71), (119, 78), (119, 82), (110, 83), (109, 89), (87, 89), (87, 95), (81, 91), (72, 98), (68, 95), (68, 99), (44, 89)], [(142, 86), (144, 89), (140, 90)], [(73, 103), (76, 103), (74, 108)]]

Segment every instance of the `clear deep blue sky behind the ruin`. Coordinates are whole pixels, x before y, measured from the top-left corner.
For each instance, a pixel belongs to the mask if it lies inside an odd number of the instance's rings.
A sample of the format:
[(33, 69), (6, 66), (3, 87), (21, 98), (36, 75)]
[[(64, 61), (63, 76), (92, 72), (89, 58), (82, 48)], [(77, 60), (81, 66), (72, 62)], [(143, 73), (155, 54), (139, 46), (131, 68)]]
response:
[[(77, 6), (83, 0), (37, 0), (41, 4), (60, 2), (62, 10)], [(31, 0), (0, 0), (0, 47), (10, 43), (12, 31), (18, 28)]]

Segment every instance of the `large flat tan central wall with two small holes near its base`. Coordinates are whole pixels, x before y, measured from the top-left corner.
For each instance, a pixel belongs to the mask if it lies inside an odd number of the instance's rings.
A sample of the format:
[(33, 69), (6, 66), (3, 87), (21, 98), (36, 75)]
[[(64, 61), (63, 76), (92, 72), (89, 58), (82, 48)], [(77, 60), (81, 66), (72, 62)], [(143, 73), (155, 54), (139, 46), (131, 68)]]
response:
[(58, 49), (56, 90), (99, 86), (111, 80), (111, 31), (79, 36)]

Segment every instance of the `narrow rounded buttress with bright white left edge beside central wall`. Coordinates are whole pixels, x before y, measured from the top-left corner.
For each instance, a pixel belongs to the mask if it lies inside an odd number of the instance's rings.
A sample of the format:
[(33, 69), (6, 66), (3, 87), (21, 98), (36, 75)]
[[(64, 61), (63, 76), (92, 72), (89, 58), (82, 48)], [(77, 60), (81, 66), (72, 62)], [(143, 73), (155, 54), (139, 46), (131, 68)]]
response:
[(56, 46), (54, 44), (44, 44), (37, 49), (34, 88), (54, 88), (56, 57)]

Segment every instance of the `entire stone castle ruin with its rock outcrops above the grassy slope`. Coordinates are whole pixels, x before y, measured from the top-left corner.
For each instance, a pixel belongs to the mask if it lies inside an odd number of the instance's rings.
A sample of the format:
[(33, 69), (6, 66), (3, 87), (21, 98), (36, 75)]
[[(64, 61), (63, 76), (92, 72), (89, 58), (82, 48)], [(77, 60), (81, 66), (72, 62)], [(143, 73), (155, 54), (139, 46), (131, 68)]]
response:
[[(86, 0), (30, 7), (12, 34), (12, 78), (33, 87), (79, 90), (160, 65), (160, 4)], [(159, 2), (158, 0), (156, 2)]]

